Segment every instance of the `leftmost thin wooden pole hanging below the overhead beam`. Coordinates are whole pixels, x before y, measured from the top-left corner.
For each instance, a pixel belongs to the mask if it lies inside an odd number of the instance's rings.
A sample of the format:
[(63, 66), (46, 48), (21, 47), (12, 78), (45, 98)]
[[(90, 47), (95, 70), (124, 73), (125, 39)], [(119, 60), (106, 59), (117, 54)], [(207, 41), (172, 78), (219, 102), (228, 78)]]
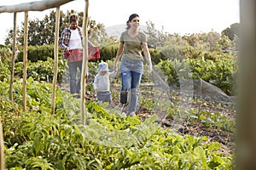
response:
[(12, 70), (11, 79), (9, 83), (9, 99), (13, 101), (13, 84), (15, 79), (15, 46), (16, 46), (16, 31), (17, 31), (17, 13), (14, 13), (14, 41), (13, 41), (13, 54), (12, 54)]

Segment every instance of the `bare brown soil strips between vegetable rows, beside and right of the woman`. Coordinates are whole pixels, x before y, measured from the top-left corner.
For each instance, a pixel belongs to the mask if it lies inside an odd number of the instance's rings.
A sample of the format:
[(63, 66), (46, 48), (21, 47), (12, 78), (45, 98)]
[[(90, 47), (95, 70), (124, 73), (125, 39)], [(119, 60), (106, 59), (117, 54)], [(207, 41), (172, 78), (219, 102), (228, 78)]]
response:
[[(113, 86), (113, 104), (119, 105), (119, 85)], [(152, 93), (152, 88), (148, 84), (142, 84), (140, 88), (140, 95), (143, 100), (150, 100), (155, 98), (155, 95)], [(159, 94), (160, 96), (164, 96), (165, 94)], [(175, 95), (175, 94), (172, 94)], [(168, 98), (171, 99), (172, 103), (176, 104), (180, 102), (180, 99), (173, 97)], [(183, 102), (183, 105), (188, 105), (188, 103)], [(204, 101), (199, 108), (199, 104), (190, 103), (189, 107), (194, 109), (200, 109), (201, 111), (208, 111), (212, 114), (219, 114), (227, 118), (227, 121), (234, 122), (236, 120), (236, 109), (234, 105), (221, 105), (218, 102), (209, 102)], [(182, 105), (179, 105), (182, 106)], [(158, 110), (159, 111), (159, 110)], [(151, 110), (147, 102), (143, 103), (140, 101), (140, 105), (137, 107), (137, 115), (141, 117), (141, 120), (144, 121), (149, 116), (154, 114), (154, 110)], [(158, 113), (161, 114), (161, 113)], [(165, 113), (166, 114), (166, 113)], [(181, 135), (189, 134), (192, 136), (206, 136), (208, 139), (208, 143), (210, 142), (218, 142), (222, 144), (221, 152), (224, 155), (234, 154), (235, 151), (235, 133), (231, 131), (224, 130), (221, 127), (206, 126), (202, 122), (189, 121), (188, 118), (183, 118), (182, 121), (176, 121), (173, 116), (166, 116), (161, 122), (161, 127), (163, 128), (173, 128), (177, 130), (177, 133)]]

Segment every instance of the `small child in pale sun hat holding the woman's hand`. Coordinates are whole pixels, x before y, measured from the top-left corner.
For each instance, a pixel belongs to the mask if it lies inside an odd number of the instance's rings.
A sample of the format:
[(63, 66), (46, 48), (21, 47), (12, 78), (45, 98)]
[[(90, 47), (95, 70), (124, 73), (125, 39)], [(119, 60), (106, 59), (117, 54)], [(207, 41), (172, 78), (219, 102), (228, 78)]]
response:
[(106, 62), (100, 63), (97, 71), (98, 74), (96, 74), (93, 83), (93, 87), (96, 91), (97, 101), (108, 102), (110, 104), (112, 102), (112, 98), (109, 90), (109, 77), (114, 77), (116, 75), (116, 71), (109, 72), (108, 64)]

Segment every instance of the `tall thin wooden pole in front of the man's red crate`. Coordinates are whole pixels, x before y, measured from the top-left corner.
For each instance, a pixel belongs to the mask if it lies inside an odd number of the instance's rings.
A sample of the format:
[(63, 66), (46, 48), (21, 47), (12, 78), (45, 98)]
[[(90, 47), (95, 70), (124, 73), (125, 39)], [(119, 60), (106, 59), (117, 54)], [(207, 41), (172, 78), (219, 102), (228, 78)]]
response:
[(81, 97), (80, 97), (80, 108), (81, 108), (81, 123), (85, 125), (85, 89), (86, 89), (86, 73), (88, 69), (88, 35), (87, 35), (87, 26), (89, 22), (88, 18), (88, 8), (89, 8), (89, 0), (85, 0), (85, 8), (84, 8), (84, 19), (83, 19), (83, 51), (84, 51), (84, 59), (82, 66), (82, 75), (81, 75)]

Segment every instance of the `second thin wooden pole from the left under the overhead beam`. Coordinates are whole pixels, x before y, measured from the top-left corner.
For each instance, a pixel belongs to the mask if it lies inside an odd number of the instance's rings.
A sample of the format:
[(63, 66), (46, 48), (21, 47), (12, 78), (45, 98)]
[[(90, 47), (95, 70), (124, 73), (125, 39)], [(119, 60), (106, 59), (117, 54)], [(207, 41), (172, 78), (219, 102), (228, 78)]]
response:
[(24, 48), (23, 48), (23, 91), (22, 104), (23, 111), (26, 111), (26, 70), (27, 70), (27, 37), (28, 37), (28, 12), (25, 11), (24, 19)]

